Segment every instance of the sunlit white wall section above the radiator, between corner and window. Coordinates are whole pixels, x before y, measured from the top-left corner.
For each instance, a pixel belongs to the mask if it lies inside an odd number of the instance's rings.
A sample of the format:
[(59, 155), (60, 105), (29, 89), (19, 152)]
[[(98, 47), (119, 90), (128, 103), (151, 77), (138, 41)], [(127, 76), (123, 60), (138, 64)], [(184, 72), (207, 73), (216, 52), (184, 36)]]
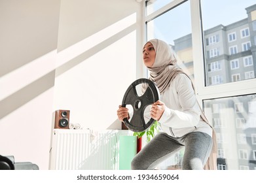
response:
[(120, 127), (115, 120), (124, 92), (142, 76), (141, 6), (135, 0), (62, 1), (54, 109), (70, 110), (71, 123)]

